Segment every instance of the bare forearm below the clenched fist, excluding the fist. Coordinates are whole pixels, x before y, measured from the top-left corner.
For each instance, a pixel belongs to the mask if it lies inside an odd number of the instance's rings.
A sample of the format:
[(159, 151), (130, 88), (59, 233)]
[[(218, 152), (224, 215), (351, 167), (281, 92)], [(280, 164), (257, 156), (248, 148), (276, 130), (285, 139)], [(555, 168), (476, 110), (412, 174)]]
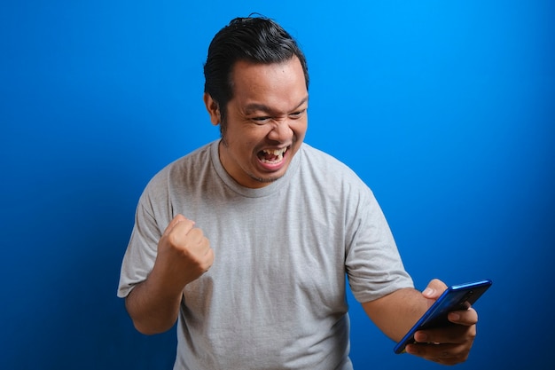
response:
[(137, 330), (153, 335), (167, 331), (176, 323), (181, 298), (181, 290), (162, 289), (151, 274), (129, 293), (125, 307)]

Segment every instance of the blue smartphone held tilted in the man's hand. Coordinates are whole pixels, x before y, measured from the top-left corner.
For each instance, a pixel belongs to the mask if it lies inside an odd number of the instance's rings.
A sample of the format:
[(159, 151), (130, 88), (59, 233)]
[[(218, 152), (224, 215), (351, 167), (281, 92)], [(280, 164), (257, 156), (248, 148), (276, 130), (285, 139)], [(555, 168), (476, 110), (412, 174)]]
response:
[(491, 280), (485, 279), (448, 287), (428, 311), (418, 319), (414, 327), (410, 328), (403, 339), (395, 345), (395, 353), (403, 353), (407, 344), (415, 342), (414, 334), (418, 330), (454, 325), (447, 319), (447, 314), (451, 311), (469, 309), (491, 287), (491, 284)]

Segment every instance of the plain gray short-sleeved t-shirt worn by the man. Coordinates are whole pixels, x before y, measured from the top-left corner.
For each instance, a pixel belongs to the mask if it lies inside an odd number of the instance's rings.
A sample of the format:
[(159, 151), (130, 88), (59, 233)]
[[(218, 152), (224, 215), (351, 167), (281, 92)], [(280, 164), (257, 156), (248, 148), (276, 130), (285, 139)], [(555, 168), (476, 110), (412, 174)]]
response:
[(261, 189), (227, 174), (218, 141), (162, 169), (137, 206), (120, 297), (146, 279), (180, 213), (215, 261), (184, 287), (175, 369), (351, 369), (346, 275), (359, 302), (412, 287), (371, 190), (307, 144)]

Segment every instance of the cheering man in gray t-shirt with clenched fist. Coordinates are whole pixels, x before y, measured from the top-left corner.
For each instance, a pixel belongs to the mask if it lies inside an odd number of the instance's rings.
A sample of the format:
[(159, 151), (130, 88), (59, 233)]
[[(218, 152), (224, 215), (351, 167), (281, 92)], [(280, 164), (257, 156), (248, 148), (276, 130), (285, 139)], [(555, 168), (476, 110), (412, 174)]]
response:
[[(118, 295), (144, 334), (178, 322), (175, 369), (350, 369), (345, 278), (398, 341), (441, 295), (404, 271), (371, 190), (303, 143), (309, 75), (272, 20), (232, 20), (205, 64), (222, 138), (162, 169), (137, 206)], [(409, 353), (468, 356), (476, 311), (421, 331)]]

